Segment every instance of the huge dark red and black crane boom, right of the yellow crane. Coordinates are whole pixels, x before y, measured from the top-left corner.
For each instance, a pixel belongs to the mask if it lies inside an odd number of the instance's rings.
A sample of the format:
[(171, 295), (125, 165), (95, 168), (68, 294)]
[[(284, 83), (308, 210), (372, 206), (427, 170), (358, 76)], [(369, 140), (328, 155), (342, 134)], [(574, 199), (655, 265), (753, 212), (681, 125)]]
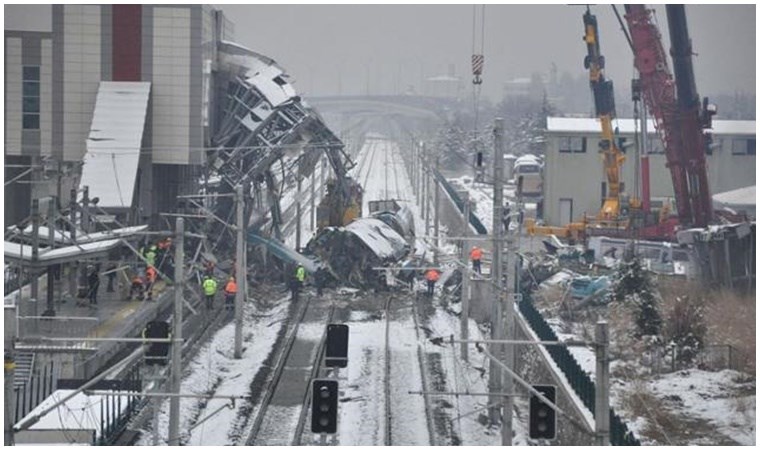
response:
[[(694, 101), (698, 96), (683, 5), (667, 7), (669, 22), (673, 17), (670, 33), (676, 80), (668, 68), (667, 54), (660, 31), (652, 21), (652, 11), (644, 5), (625, 5), (625, 11), (634, 65), (641, 77), (644, 103), (665, 148), (679, 221), (684, 226), (705, 226), (712, 218), (704, 155), (706, 140), (702, 130), (709, 126), (709, 114), (702, 115), (699, 101)], [(676, 84), (680, 85), (678, 97)]]

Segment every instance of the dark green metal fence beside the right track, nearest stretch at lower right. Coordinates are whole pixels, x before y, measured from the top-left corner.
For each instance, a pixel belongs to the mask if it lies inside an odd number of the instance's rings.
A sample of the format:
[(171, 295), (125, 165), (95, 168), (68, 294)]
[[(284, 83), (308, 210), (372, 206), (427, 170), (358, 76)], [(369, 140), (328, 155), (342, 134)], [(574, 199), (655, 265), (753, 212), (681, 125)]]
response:
[[(520, 312), (525, 317), (533, 332), (542, 341), (558, 341), (557, 335), (544, 320), (541, 313), (533, 305), (530, 292), (523, 292), (523, 301), (518, 303)], [(567, 347), (550, 345), (546, 350), (551, 355), (557, 367), (565, 374), (567, 381), (581, 399), (583, 404), (596, 417), (596, 387), (591, 377), (581, 369)], [(623, 420), (610, 408), (610, 443), (612, 445), (641, 445)]]

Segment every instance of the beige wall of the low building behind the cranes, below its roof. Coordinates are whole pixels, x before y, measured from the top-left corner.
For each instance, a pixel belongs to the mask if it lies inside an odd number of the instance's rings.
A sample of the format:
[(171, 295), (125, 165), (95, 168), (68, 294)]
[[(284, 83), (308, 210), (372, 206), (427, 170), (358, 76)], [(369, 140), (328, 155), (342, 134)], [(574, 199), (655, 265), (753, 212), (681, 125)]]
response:
[[(565, 153), (559, 151), (560, 139), (568, 136), (586, 139), (586, 151)], [(620, 137), (633, 141), (633, 135)], [(654, 148), (659, 144), (656, 135)], [(717, 135), (714, 143), (719, 147), (707, 155), (710, 193), (716, 194), (755, 184), (755, 155), (733, 154), (735, 141), (755, 139), (755, 136)], [(601, 156), (598, 153), (599, 134), (589, 133), (547, 133), (546, 160), (544, 166), (544, 219), (551, 225), (565, 225), (560, 218), (560, 200), (572, 199), (572, 220), (579, 220), (584, 212), (595, 215), (602, 205), (602, 183), (606, 181)], [(661, 145), (660, 145), (661, 148)], [(622, 181), (629, 195), (634, 188), (633, 149), (623, 164)], [(650, 189), (653, 199), (673, 198), (670, 171), (665, 167), (665, 155), (652, 154), (649, 157)]]

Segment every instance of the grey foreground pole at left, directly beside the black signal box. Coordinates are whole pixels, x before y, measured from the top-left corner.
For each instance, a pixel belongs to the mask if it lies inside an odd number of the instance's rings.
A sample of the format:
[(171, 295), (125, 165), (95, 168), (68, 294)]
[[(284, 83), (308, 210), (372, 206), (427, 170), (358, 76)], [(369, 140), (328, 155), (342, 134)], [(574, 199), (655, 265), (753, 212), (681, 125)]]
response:
[[(174, 319), (172, 338), (172, 393), (179, 394), (182, 384), (182, 308), (185, 288), (185, 219), (177, 218), (174, 239)], [(179, 339), (179, 341), (177, 340)], [(178, 395), (169, 400), (169, 445), (179, 445)]]

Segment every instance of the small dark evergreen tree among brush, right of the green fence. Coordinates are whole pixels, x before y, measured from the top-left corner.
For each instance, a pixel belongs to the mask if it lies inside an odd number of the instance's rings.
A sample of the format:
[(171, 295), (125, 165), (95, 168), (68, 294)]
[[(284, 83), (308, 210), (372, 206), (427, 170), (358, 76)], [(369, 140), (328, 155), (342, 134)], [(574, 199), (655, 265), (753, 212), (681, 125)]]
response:
[(613, 280), (612, 299), (629, 302), (636, 308), (634, 336), (657, 336), (662, 328), (660, 304), (651, 274), (638, 257), (622, 261)]

